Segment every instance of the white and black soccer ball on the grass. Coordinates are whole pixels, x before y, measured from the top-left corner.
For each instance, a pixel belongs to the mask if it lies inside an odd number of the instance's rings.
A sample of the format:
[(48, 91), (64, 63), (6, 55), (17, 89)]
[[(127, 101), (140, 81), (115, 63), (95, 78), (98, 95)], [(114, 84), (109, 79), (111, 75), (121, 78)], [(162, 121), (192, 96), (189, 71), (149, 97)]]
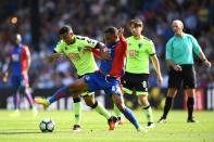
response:
[(42, 119), (39, 128), (41, 132), (52, 132), (55, 128), (55, 122), (51, 118)]

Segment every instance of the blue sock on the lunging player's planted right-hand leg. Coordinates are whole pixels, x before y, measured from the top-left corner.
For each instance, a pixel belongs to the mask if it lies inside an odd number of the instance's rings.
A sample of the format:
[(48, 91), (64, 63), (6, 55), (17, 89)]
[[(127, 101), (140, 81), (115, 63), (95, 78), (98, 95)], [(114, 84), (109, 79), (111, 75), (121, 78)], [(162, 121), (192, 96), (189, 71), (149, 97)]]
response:
[(139, 125), (138, 120), (136, 119), (135, 115), (133, 114), (133, 112), (126, 107), (124, 111), (122, 111), (122, 113), (138, 130), (140, 125)]

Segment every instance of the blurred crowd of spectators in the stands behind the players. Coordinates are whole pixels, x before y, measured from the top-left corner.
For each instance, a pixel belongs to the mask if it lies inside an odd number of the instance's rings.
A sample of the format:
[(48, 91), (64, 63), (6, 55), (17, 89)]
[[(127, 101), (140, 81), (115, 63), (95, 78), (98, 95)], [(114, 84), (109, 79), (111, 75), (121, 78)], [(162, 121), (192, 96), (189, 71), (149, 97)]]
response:
[[(108, 25), (125, 26), (140, 17), (143, 35), (153, 40), (167, 87), (165, 43), (174, 35), (171, 23), (182, 20), (185, 31), (199, 41), (207, 59), (214, 64), (214, 1), (213, 0), (7, 0), (0, 1), (0, 68), (7, 67), (12, 49), (10, 37), (14, 30), (23, 36), (32, 53), (29, 80), (33, 88), (53, 88), (68, 85), (76, 78), (68, 60), (49, 64), (47, 56), (59, 41), (58, 31), (64, 24), (75, 34), (103, 41)], [(126, 30), (126, 36), (129, 33)], [(98, 61), (99, 64), (99, 61)], [(198, 87), (214, 86), (214, 67), (205, 68), (196, 57)], [(0, 87), (10, 87), (11, 82)], [(156, 86), (151, 66), (150, 86)]]

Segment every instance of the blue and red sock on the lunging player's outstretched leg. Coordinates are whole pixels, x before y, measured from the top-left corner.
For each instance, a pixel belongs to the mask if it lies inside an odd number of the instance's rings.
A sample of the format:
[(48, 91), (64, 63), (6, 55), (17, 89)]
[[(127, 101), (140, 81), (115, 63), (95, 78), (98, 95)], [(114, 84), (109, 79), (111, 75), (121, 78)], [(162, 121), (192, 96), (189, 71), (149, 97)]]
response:
[(48, 99), (49, 103), (52, 104), (53, 102), (60, 100), (61, 98), (68, 96), (70, 92), (67, 91), (66, 87), (59, 89), (50, 99)]

